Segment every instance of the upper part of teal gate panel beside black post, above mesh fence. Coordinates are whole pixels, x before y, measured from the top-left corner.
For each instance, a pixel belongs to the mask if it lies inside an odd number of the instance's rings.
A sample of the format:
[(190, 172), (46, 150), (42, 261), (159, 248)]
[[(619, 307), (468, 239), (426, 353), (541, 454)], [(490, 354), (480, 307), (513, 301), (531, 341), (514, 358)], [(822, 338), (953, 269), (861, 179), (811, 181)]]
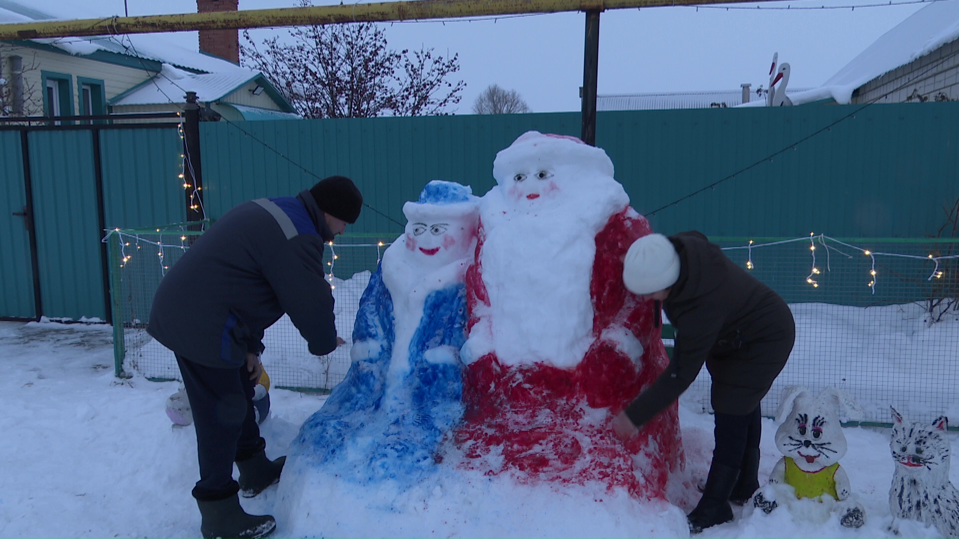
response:
[(173, 129), (100, 132), (107, 228), (186, 221), (181, 172), (183, 141)]

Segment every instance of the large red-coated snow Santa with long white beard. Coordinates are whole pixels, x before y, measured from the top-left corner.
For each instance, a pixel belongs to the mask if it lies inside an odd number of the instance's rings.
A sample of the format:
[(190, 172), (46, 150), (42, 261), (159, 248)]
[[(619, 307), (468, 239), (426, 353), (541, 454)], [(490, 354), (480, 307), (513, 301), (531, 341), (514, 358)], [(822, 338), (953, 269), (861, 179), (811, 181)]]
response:
[(628, 443), (610, 422), (668, 363), (659, 308), (622, 260), (651, 233), (601, 149), (528, 131), (499, 152), (466, 277), (466, 466), (664, 498), (684, 463), (673, 404)]

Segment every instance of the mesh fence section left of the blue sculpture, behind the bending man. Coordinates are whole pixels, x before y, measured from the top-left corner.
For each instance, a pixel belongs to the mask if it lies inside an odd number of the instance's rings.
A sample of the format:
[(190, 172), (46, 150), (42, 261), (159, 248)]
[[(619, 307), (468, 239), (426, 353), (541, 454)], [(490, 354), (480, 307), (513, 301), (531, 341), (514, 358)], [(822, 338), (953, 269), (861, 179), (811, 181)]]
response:
[[(114, 352), (118, 375), (136, 371), (152, 380), (179, 380), (173, 352), (147, 334), (153, 293), (166, 271), (183, 255), (202, 224), (172, 224), (161, 228), (112, 230), (106, 241), (112, 261)], [(273, 324), (264, 336), (264, 368), (275, 387), (329, 390), (339, 384), (350, 365), (349, 348), (360, 297), (369, 276), (395, 234), (340, 236), (324, 249), (327, 280), (336, 299), (337, 333), (346, 340), (335, 352), (316, 357), (289, 316)]]

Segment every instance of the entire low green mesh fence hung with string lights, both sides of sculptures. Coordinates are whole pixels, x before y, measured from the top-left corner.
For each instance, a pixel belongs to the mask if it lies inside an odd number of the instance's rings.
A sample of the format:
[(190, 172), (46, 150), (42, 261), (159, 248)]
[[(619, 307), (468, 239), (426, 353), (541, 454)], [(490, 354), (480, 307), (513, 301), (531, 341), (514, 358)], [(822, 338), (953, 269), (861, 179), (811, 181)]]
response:
[[(179, 378), (173, 353), (145, 327), (157, 284), (201, 228), (175, 224), (107, 237), (118, 375)], [(317, 358), (284, 316), (264, 339), (274, 386), (328, 390), (342, 380), (360, 297), (395, 237), (347, 235), (327, 246), (337, 330), (347, 344)], [(780, 293), (796, 319), (796, 345), (763, 400), (764, 414), (776, 411), (785, 386), (801, 385), (846, 390), (867, 422), (888, 423), (890, 405), (917, 420), (959, 417), (959, 240), (712, 240)], [(683, 399), (711, 410), (709, 394), (703, 373)]]

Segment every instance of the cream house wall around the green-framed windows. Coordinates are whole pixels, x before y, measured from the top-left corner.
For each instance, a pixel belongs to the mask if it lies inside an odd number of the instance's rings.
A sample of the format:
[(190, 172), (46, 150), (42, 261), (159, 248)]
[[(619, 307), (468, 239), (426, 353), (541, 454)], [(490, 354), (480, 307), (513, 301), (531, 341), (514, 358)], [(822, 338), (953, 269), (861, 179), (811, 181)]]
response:
[(35, 87), (35, 103), (33, 105), (38, 110), (43, 109), (43, 92), (40, 87), (42, 84), (41, 71), (53, 71), (70, 75), (73, 86), (73, 110), (75, 114), (79, 114), (80, 112), (80, 103), (77, 97), (77, 77), (103, 81), (105, 99), (108, 102), (114, 96), (129, 90), (129, 88), (132, 88), (140, 82), (146, 81), (151, 75), (145, 69), (134, 69), (123, 65), (84, 59), (71, 55), (61, 55), (29, 47), (3, 45), (0, 46), (0, 51), (2, 51), (2, 55), (5, 57), (2, 68), (5, 78), (11, 76), (10, 63), (6, 61), (6, 57), (11, 55), (22, 57), (25, 68), (35, 63), (36, 69), (23, 74), (23, 83), (24, 87), (30, 85)]

